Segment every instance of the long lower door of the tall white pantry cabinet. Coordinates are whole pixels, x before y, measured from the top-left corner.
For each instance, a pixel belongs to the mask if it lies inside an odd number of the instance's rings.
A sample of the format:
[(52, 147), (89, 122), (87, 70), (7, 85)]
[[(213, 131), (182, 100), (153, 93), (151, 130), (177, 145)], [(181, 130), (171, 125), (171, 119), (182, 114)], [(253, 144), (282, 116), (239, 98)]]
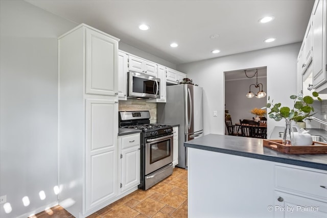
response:
[(86, 211), (118, 195), (117, 103), (86, 100)]

